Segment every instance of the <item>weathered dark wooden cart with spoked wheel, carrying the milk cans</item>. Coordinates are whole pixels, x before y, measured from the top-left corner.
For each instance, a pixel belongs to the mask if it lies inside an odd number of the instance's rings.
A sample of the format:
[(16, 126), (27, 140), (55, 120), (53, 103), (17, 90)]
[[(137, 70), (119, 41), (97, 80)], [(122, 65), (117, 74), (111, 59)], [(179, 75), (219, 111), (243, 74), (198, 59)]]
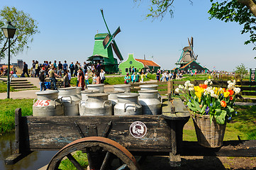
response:
[[(140, 169), (133, 156), (169, 155), (170, 166), (179, 166), (181, 154), (226, 153), (222, 156), (229, 156), (227, 153), (232, 153), (228, 152), (234, 150), (230, 149), (230, 144), (209, 149), (196, 142), (182, 142), (183, 128), (189, 118), (189, 111), (178, 98), (173, 103), (163, 103), (162, 115), (22, 117), (18, 108), (17, 152), (5, 162), (15, 164), (33, 151), (59, 150), (48, 169), (58, 169), (62, 159), (66, 158), (77, 169), (84, 169), (72, 156), (74, 152), (82, 151), (87, 153), (90, 169)], [(239, 147), (241, 154), (238, 156), (248, 153), (255, 156), (255, 141), (251, 142), (249, 145), (236, 143), (236, 146), (245, 146)]]

